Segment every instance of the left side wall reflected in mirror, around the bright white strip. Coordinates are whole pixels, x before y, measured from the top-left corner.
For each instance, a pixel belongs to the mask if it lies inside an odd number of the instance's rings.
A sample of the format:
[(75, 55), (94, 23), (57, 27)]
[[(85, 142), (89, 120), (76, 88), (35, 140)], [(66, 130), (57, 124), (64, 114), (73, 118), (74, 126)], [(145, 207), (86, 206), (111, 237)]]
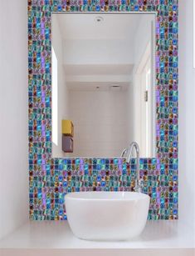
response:
[[(57, 58), (57, 123), (58, 123), (58, 139), (57, 145), (52, 143), (52, 157), (61, 158), (64, 157), (64, 153), (61, 150), (61, 120), (68, 119), (68, 90), (66, 87), (66, 78), (63, 67), (63, 47), (61, 30), (57, 20), (57, 15), (52, 15), (52, 47), (55, 50)], [(54, 86), (54, 85), (52, 85)]]

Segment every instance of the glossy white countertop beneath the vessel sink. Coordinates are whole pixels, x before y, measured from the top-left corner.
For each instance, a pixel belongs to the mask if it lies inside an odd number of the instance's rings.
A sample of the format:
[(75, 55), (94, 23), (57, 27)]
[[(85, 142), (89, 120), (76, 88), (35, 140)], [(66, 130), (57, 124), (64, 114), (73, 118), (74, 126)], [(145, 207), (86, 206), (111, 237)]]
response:
[(148, 221), (134, 240), (95, 242), (76, 238), (67, 221), (29, 221), (3, 238), (0, 248), (195, 248), (195, 236), (179, 221)]

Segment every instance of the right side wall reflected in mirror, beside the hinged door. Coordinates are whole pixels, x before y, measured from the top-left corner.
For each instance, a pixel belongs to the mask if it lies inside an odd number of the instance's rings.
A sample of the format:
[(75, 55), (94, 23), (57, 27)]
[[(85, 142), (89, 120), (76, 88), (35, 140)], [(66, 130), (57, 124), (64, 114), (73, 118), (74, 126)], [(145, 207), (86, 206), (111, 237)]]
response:
[[(149, 153), (146, 153), (146, 143), (143, 140), (145, 133), (145, 125), (143, 125), (142, 116), (142, 103), (144, 100), (143, 88), (142, 88), (142, 75), (143, 70), (140, 66), (146, 63), (147, 55), (151, 55), (151, 38), (152, 38), (152, 22), (154, 21), (154, 15), (143, 15), (140, 18), (139, 26), (134, 35), (134, 70), (133, 70), (133, 81), (128, 89), (129, 97), (129, 133), (128, 133), (128, 143), (136, 141), (139, 143), (140, 156), (141, 157), (154, 157), (153, 151), (154, 143), (152, 147), (149, 148)], [(149, 44), (150, 43), (150, 44)], [(152, 56), (151, 56), (152, 58)], [(145, 63), (144, 63), (145, 61)], [(142, 67), (144, 68), (144, 67)], [(140, 69), (140, 70), (138, 70)], [(150, 95), (150, 94), (149, 94)], [(153, 115), (151, 113), (151, 115)], [(134, 120), (134, 125), (132, 125), (132, 120)], [(145, 124), (145, 123), (144, 123)], [(152, 132), (152, 131), (149, 131)], [(151, 141), (151, 140), (150, 140)]]

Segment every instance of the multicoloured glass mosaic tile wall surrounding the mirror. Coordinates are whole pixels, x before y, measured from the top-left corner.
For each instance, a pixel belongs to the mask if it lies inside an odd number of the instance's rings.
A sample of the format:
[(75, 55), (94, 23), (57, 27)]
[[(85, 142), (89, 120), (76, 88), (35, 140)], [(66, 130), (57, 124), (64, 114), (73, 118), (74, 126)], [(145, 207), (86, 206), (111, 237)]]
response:
[(178, 0), (28, 0), (30, 219), (66, 219), (71, 191), (131, 191), (135, 163), (51, 158), (51, 13), (156, 12), (156, 158), (140, 159), (149, 219), (178, 218)]

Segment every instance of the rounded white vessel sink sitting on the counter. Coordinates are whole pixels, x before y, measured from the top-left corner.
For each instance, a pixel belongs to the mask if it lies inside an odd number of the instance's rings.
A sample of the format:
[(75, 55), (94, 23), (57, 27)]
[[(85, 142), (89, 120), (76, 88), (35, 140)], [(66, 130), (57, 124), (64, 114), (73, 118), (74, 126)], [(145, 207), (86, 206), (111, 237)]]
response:
[(149, 200), (136, 192), (67, 193), (67, 219), (77, 238), (127, 240), (143, 231)]

